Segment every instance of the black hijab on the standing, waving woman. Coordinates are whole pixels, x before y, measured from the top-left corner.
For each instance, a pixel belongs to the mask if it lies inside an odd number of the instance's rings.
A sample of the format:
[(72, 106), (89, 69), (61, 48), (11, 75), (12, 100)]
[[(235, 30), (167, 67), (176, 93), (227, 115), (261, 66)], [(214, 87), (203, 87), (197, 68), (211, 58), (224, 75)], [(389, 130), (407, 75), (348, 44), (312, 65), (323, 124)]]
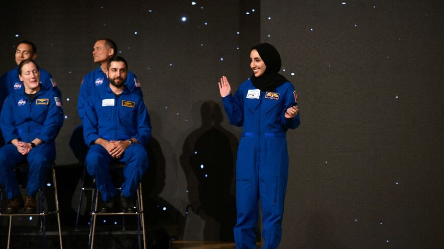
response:
[(264, 92), (276, 91), (277, 87), (288, 81), (278, 73), (281, 70), (281, 56), (279, 56), (278, 50), (269, 43), (261, 43), (251, 48), (251, 50), (253, 49), (258, 51), (266, 66), (265, 72), (261, 76), (256, 77), (254, 73), (251, 76), (253, 86)]

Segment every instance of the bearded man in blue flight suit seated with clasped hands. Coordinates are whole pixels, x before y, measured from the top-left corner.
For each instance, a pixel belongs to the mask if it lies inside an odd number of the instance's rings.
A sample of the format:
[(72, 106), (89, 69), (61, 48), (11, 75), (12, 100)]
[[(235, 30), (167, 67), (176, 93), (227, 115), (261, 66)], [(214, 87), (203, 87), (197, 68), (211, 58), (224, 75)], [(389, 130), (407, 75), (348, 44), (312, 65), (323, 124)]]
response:
[(84, 138), (89, 146), (85, 165), (104, 201), (100, 212), (112, 212), (116, 189), (109, 165), (125, 162), (120, 204), (124, 212), (134, 212), (136, 189), (149, 165), (144, 146), (151, 138), (150, 116), (142, 98), (125, 84), (125, 59), (112, 57), (107, 68), (109, 84), (89, 97), (84, 106)]

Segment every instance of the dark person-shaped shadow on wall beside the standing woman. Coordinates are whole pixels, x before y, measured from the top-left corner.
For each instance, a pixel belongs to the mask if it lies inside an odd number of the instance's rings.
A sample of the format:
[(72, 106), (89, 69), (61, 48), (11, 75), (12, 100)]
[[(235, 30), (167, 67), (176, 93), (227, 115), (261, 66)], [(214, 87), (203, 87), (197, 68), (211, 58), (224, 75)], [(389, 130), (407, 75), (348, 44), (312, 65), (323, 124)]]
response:
[(216, 102), (206, 101), (200, 110), (202, 125), (186, 137), (180, 156), (190, 203), (183, 239), (233, 241), (236, 224), (233, 151), (238, 141), (220, 126), (223, 116)]

